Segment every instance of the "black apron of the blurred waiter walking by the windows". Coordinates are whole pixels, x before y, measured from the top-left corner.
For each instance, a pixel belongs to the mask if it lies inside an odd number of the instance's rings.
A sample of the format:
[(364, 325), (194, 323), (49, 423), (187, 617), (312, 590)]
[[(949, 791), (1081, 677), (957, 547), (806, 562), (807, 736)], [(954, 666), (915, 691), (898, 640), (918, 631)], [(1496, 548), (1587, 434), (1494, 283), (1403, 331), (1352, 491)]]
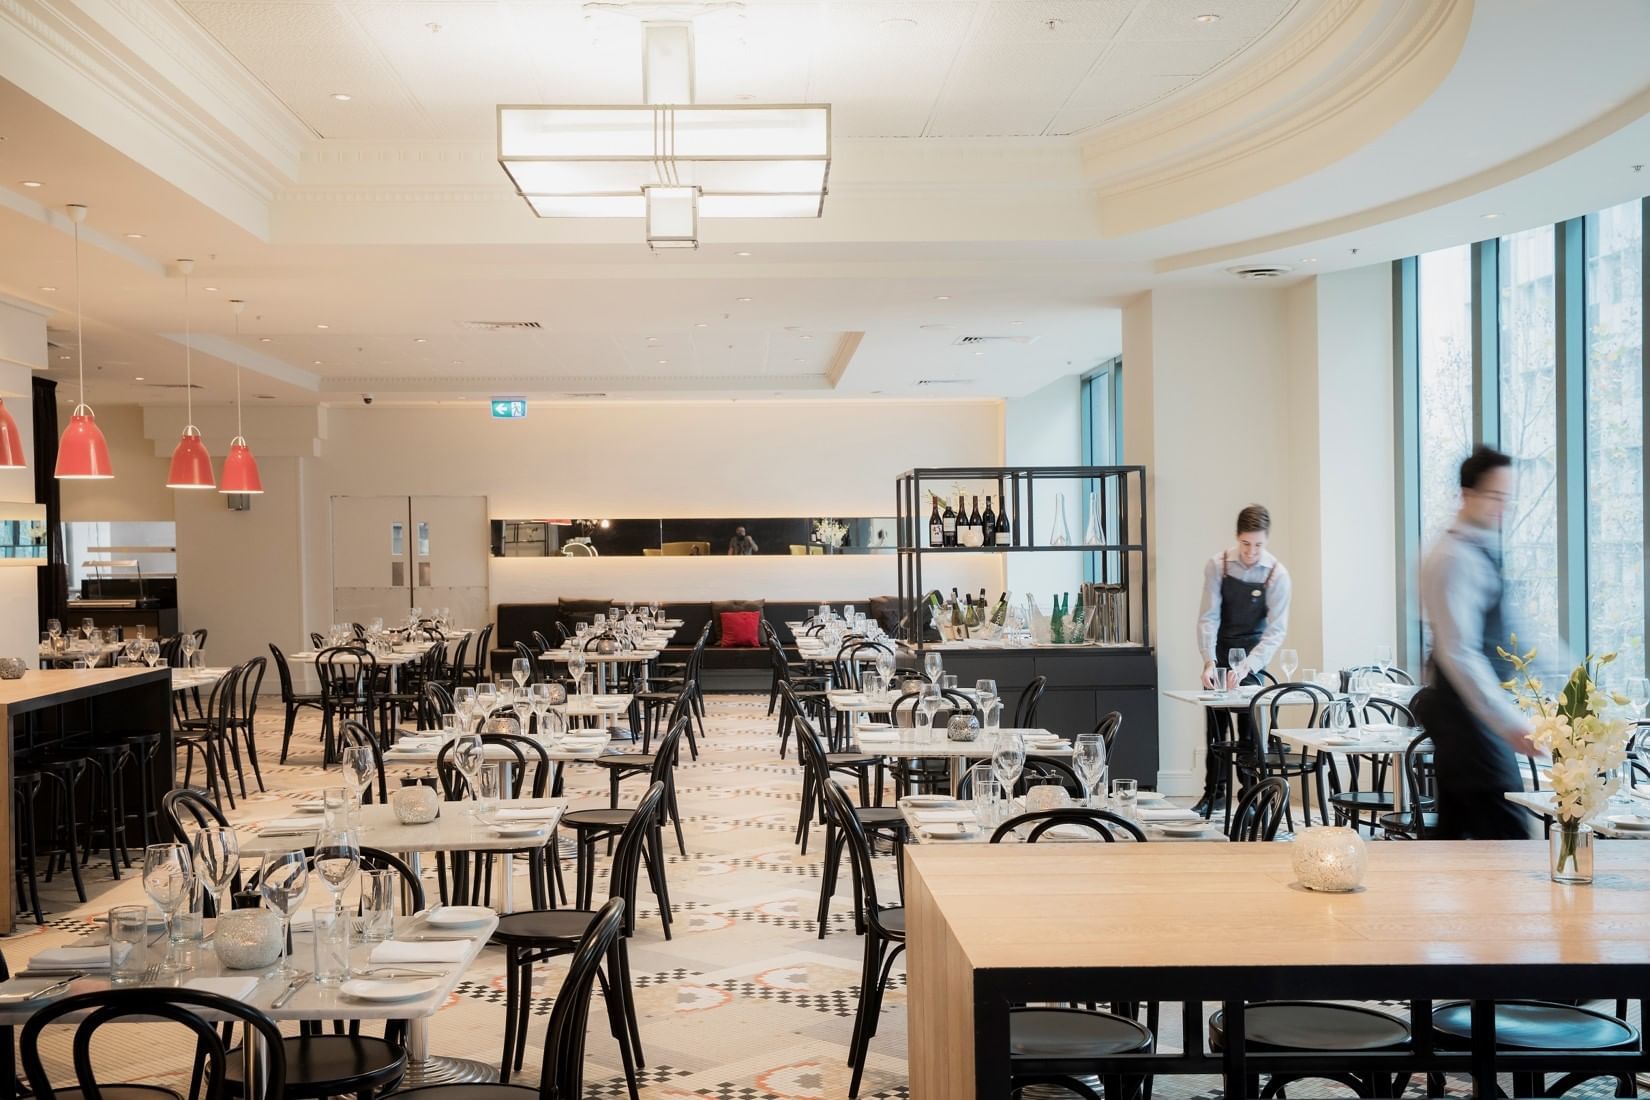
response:
[[(1495, 566), (1498, 585), (1495, 602), (1483, 613), (1483, 656), (1495, 678), (1505, 681), (1511, 679), (1513, 665), (1497, 653), (1497, 646), (1510, 643), (1503, 610), (1506, 585), (1495, 554), (1482, 544), (1478, 551)], [(1506, 792), (1525, 788), (1518, 775), (1518, 755), (1473, 716), (1449, 675), (1431, 656), (1427, 673), (1427, 686), (1416, 693), (1411, 709), (1432, 737), (1437, 754), (1437, 834), (1457, 839), (1525, 839), (1530, 834), (1525, 813), (1503, 798)]]

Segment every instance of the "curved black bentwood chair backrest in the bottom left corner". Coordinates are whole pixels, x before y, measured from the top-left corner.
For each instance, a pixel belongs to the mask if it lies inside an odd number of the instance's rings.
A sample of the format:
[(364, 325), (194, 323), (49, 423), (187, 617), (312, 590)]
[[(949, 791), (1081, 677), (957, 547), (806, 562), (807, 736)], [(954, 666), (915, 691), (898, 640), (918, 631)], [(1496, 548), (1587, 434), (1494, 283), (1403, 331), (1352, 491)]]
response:
[[(53, 1082), (51, 1075), (46, 1072), (40, 1057), (40, 1036), (51, 1024), (63, 1022), (81, 1014), (84, 1014), (84, 1019), (74, 1026), (74, 1039), (71, 1041), (74, 1087), (69, 1088), (69, 1082)], [(223, 1032), (218, 1027), (224, 1018), (244, 1024), (248, 1031), (256, 1031), (262, 1039), (264, 1062), (262, 1074), (259, 1077), (262, 1082), (262, 1092), (256, 1097), (248, 1098), (244, 1090), (231, 1085), (231, 1054)], [(23, 1034), (18, 1046), (23, 1055), (23, 1072), (28, 1075), (28, 1084), (35, 1090), (35, 1095), (40, 1100), (53, 1100), (58, 1095), (54, 1087), (56, 1084), (64, 1087), (66, 1092), (76, 1092), (81, 1097), (97, 1100), (101, 1090), (97, 1069), (92, 1065), (92, 1037), (104, 1024), (127, 1021), (135, 1022), (139, 1019), (145, 1024), (165, 1021), (182, 1026), (185, 1031), (193, 1034), (195, 1041), (190, 1044), (177, 1042), (177, 1036), (173, 1034), (162, 1037), (152, 1036), (148, 1031), (144, 1032), (145, 1042), (160, 1039), (163, 1044), (162, 1049), (177, 1051), (180, 1057), (193, 1047), (196, 1065), (205, 1067), (201, 1092), (191, 1093), (193, 1097), (200, 1100), (226, 1100), (228, 1097), (264, 1100), (266, 1097), (282, 1097), (285, 1093), (285, 1047), (280, 1041), (280, 1029), (276, 1027), (274, 1021), (264, 1016), (264, 1013), (241, 1001), (226, 998), (221, 993), (147, 986), (142, 990), (97, 990), (94, 993), (66, 996), (61, 1001), (48, 1001), (33, 1016), (30, 1016), (28, 1022), (23, 1024)], [(117, 1080), (125, 1080), (119, 1070), (119, 1055), (116, 1054), (117, 1049), (119, 1047), (112, 1047), (109, 1051), (109, 1060), (116, 1062), (111, 1069), (116, 1072)], [(182, 1072), (182, 1069), (183, 1067), (180, 1065), (178, 1070)], [(112, 1082), (104, 1080), (102, 1084), (109, 1085)]]

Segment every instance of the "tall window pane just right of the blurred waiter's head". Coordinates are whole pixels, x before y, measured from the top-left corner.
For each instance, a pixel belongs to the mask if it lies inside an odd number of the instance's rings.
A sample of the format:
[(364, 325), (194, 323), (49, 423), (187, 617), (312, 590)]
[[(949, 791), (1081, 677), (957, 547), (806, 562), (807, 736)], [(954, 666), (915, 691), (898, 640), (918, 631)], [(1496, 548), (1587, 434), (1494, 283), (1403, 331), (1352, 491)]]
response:
[(1551, 646), (1559, 638), (1553, 226), (1502, 237), (1498, 252), (1502, 450), (1513, 457), (1502, 521), (1506, 610), (1511, 628)]

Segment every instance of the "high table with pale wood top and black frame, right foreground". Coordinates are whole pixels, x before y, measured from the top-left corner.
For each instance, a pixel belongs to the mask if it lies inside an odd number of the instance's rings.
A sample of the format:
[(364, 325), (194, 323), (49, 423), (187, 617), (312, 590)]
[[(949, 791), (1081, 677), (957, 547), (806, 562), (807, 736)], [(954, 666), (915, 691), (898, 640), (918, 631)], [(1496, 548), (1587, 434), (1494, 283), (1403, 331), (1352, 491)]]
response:
[[(912, 1100), (1010, 1095), (1010, 1009), (1025, 1003), (1178, 1001), (1185, 1052), (1117, 1055), (1120, 1072), (1343, 1070), (1495, 1074), (1558, 1062), (1634, 1074), (1638, 1051), (1495, 1049), (1493, 1001), (1650, 998), (1650, 844), (1600, 844), (1592, 886), (1548, 876), (1544, 841), (1370, 844), (1363, 887), (1295, 884), (1292, 844), (912, 844), (906, 859)], [(1244, 1003), (1409, 1001), (1412, 1051), (1302, 1055), (1246, 1049)], [(1434, 1046), (1431, 1006), (1472, 1003), (1470, 1049)], [(1206, 1008), (1228, 1044), (1203, 1047)], [(1543, 1060), (1544, 1059), (1544, 1060)]]

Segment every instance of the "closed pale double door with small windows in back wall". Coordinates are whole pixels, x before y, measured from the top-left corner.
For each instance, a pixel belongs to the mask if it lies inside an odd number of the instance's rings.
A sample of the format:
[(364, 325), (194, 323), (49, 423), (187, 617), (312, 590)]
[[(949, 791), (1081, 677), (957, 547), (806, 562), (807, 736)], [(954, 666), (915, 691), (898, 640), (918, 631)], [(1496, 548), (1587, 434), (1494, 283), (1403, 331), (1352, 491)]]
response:
[(332, 620), (403, 622), (419, 607), (487, 622), (485, 496), (333, 496)]

